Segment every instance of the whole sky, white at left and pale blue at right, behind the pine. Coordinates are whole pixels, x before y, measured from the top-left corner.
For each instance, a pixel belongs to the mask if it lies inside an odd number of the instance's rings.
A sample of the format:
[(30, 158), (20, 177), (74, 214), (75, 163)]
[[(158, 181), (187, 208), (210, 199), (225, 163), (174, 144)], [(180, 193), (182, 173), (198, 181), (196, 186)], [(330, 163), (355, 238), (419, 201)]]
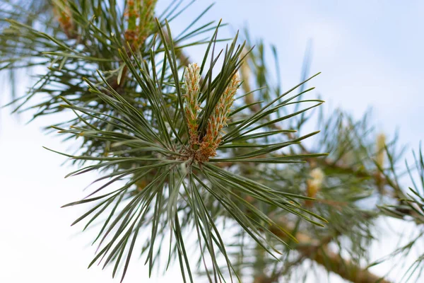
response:
[[(158, 2), (160, 11), (168, 1)], [(172, 29), (184, 28), (209, 3), (197, 1), (172, 21)], [(223, 35), (247, 27), (251, 37), (276, 45), (284, 89), (299, 82), (310, 40), (310, 73), (322, 71), (310, 86), (316, 86), (325, 107), (342, 108), (355, 117), (372, 107), (379, 131), (399, 129), (401, 143), (417, 149), (424, 139), (423, 14), (424, 1), (222, 0), (204, 22), (223, 18), (230, 23)], [(193, 60), (200, 56), (201, 49), (190, 53)], [(0, 104), (8, 100), (8, 86), (2, 89)], [(42, 132), (54, 122), (51, 117), (26, 125), (28, 114), (12, 117), (8, 108), (1, 109), (0, 117), (0, 282), (119, 282), (111, 279), (110, 270), (87, 270), (93, 234), (70, 227), (83, 209), (59, 208), (81, 198), (95, 175), (64, 179), (72, 168), (61, 166), (62, 156), (42, 148), (66, 150), (58, 137)], [(391, 245), (384, 240), (373, 247), (375, 256)], [(374, 270), (383, 274), (388, 266)], [(146, 276), (140, 261), (126, 282), (179, 282), (179, 267), (171, 267), (164, 277)], [(337, 277), (325, 280), (341, 282)]]

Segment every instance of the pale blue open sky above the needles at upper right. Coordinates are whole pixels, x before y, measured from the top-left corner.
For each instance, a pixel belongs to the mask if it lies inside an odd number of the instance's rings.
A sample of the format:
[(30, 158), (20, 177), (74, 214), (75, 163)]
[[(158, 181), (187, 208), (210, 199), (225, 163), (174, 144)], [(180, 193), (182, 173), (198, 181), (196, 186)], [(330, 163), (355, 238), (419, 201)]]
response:
[[(196, 15), (208, 1), (198, 1)], [(259, 4), (258, 4), (259, 3)], [(206, 18), (223, 18), (232, 30), (246, 26), (252, 37), (276, 45), (285, 89), (298, 83), (312, 40), (310, 85), (330, 105), (360, 117), (369, 107), (385, 132), (418, 146), (424, 96), (423, 1), (217, 1)], [(176, 21), (173, 28), (189, 23)], [(221, 33), (223, 34), (223, 33)], [(421, 107), (420, 107), (421, 106)], [(327, 105), (326, 107), (329, 107)]]

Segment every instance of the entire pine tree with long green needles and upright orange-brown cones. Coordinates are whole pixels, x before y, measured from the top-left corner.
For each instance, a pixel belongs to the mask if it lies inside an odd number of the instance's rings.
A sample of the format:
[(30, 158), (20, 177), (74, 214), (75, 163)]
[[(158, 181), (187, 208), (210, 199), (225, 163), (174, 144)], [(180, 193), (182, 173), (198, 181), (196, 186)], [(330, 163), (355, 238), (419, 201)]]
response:
[[(149, 275), (176, 264), (182, 282), (264, 283), (313, 277), (304, 265), (313, 262), (347, 282), (391, 282), (368, 268), (422, 237), (420, 148), (402, 166), (404, 147), (368, 115), (326, 115), (306, 86), (318, 74), (282, 91), (270, 79), (278, 66), (265, 59), (271, 51), (278, 62), (275, 47), (247, 32), (220, 38), (221, 21), (201, 23), (211, 6), (175, 35), (172, 20), (190, 3), (155, 5), (0, 1), (0, 70), (11, 83), (23, 69), (35, 74), (8, 106), (34, 110), (34, 119), (73, 112), (46, 129), (76, 151), (49, 150), (78, 167), (68, 176), (99, 175), (88, 195), (64, 205), (87, 207), (73, 224), (99, 224), (89, 266), (111, 266), (124, 280), (141, 255)], [(201, 62), (186, 51), (195, 45)], [(300, 134), (313, 118), (321, 132)], [(411, 187), (399, 181), (404, 173)], [(382, 216), (415, 222), (418, 236), (370, 262)], [(406, 281), (423, 260), (407, 267)]]

